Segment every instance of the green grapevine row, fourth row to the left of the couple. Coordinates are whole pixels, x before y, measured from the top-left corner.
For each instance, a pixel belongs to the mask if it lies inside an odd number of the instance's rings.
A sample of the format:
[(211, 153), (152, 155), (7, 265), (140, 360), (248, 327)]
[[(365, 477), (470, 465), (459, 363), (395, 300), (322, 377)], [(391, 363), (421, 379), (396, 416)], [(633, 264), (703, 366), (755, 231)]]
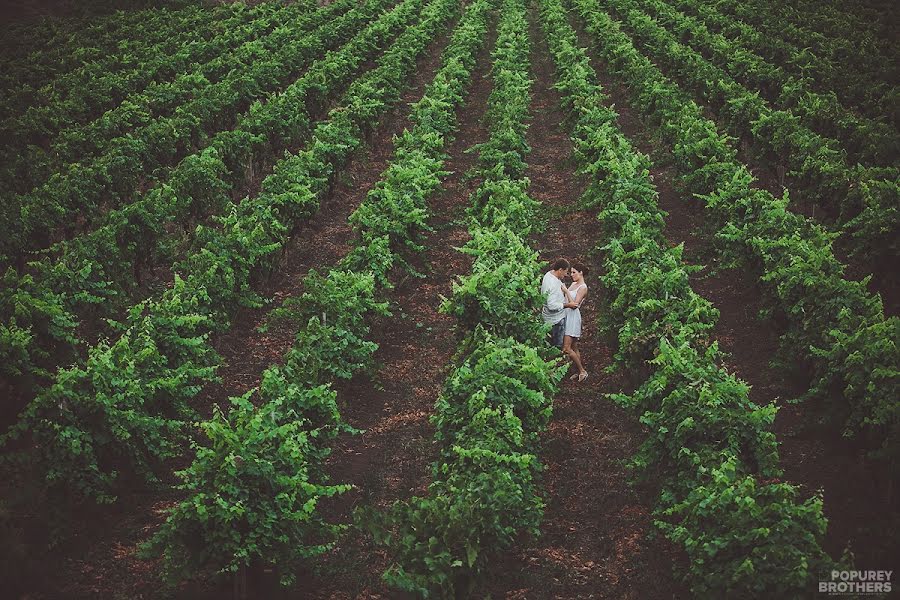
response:
[[(322, 16), (351, 3), (335, 2)], [(384, 4), (376, 0), (358, 7), (304, 38), (306, 58), (296, 67), (303, 68), (326, 44), (342, 43)], [(185, 157), (168, 182), (110, 211), (94, 231), (51, 247), (29, 263), (27, 271), (8, 271), (6, 291), (0, 295), (0, 352), (7, 357), (7, 376), (41, 376), (68, 359), (80, 343), (75, 337), (77, 315), (91, 307), (101, 316), (114, 313), (138, 291), (143, 271), (173, 253), (167, 249), (173, 245), (173, 234), (165, 225), (182, 222), (187, 231), (221, 213), (229, 201), (228, 191), (252, 176), (248, 165), (302, 140), (310, 131), (311, 113), (321, 110), (328, 96), (393, 31), (364, 30), (339, 51), (313, 63), (303, 77), (266, 104), (252, 105), (236, 129), (220, 132), (209, 146)]]

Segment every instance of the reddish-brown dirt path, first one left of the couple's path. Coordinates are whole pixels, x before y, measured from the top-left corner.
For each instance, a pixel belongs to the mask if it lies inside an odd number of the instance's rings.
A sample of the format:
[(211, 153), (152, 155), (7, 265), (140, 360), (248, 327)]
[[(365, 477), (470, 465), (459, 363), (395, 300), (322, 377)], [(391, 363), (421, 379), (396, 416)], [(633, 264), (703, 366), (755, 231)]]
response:
[[(376, 359), (381, 368), (378, 387), (369, 381), (354, 381), (340, 390), (346, 401), (341, 413), (354, 427), (365, 429), (359, 436), (344, 437), (335, 447), (329, 470), (335, 481), (352, 483), (336, 519), (349, 520), (356, 506), (385, 508), (427, 492), (431, 463), (436, 457), (434, 429), (428, 421), (446, 379), (450, 358), (456, 350), (454, 320), (438, 313), (441, 296), (449, 296), (456, 276), (465, 274), (471, 257), (455, 250), (469, 239), (459, 219), (477, 182), (467, 180), (475, 155), (465, 150), (483, 142), (487, 132), (481, 117), (491, 91), (488, 78), (490, 50), (496, 39), (491, 28), (479, 53), (467, 97), (457, 116), (459, 130), (447, 148), (444, 170), (451, 174), (439, 192), (428, 201), (435, 231), (424, 241), (425, 251), (413, 264), (426, 277), (403, 278), (389, 294), (394, 315), (373, 328), (378, 342)], [(390, 564), (385, 549), (351, 529), (344, 540), (308, 573), (308, 592), (300, 597), (400, 598), (381, 575)]]

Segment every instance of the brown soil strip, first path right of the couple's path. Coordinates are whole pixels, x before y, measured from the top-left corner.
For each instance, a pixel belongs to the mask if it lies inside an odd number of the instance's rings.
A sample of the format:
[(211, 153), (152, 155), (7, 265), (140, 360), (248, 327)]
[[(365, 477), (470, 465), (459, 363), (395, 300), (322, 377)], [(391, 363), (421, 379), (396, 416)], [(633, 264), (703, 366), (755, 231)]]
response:
[[(582, 44), (588, 40), (581, 36)], [(665, 148), (659, 147), (650, 128), (632, 112), (627, 91), (609, 76), (600, 59), (592, 61), (619, 113), (622, 131), (642, 152), (664, 155)], [(673, 245), (684, 242), (687, 262), (703, 264), (708, 259), (708, 266), (715, 269), (709, 238), (701, 233), (705, 214), (700, 201), (680, 194), (673, 186), (675, 169), (665, 161), (660, 166), (660, 162), (654, 161), (652, 175), (660, 206), (668, 212), (667, 239)], [(836, 434), (812, 431), (809, 425), (814, 407), (788, 403), (808, 389), (809, 381), (802, 369), (788, 374), (770, 366), (779, 347), (779, 329), (771, 320), (758, 318), (764, 304), (757, 278), (735, 270), (712, 275), (701, 271), (692, 276), (692, 285), (720, 311), (714, 336), (729, 355), (729, 371), (751, 385), (750, 398), (756, 404), (775, 402), (779, 406), (775, 433), (786, 480), (798, 484), (804, 497), (823, 491), (829, 522), (825, 549), (840, 558), (849, 544), (856, 554), (857, 568), (891, 569), (900, 556), (896, 536), (900, 512), (888, 500), (886, 474), (876, 471)]]

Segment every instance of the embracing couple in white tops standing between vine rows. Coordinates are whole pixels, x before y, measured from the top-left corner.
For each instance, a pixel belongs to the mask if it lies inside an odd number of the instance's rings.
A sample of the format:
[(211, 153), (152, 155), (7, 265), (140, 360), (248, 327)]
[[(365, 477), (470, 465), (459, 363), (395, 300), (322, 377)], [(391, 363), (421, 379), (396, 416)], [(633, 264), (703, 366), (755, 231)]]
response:
[[(544, 274), (541, 282), (541, 294), (544, 296), (544, 308), (541, 315), (544, 323), (552, 325), (550, 329), (550, 343), (572, 359), (572, 363), (578, 369), (578, 373), (570, 379), (584, 381), (588, 373), (581, 364), (581, 352), (578, 350), (578, 340), (581, 337), (581, 303), (587, 298), (587, 267), (581, 263), (569, 264), (564, 258), (557, 259), (553, 266)], [(563, 283), (563, 278), (571, 277), (572, 283), (568, 286)]]

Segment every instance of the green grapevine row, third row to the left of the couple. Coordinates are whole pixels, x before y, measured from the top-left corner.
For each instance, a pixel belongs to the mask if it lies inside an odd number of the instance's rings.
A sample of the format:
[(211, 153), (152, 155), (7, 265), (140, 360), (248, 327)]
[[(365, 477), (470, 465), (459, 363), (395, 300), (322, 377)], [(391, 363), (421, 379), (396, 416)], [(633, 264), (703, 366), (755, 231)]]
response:
[[(308, 148), (280, 161), (259, 196), (226, 207), (219, 227), (198, 227), (198, 249), (177, 266), (161, 298), (136, 305), (114, 343), (92, 347), (83, 367), (60, 370), (26, 408), (4, 441), (29, 436), (45, 485), (108, 502), (117, 466), (152, 481), (160, 461), (177, 455), (181, 419), (192, 414), (188, 402), (215, 379), (219, 358), (210, 336), (228, 328), (239, 306), (258, 305), (252, 282), (274, 267), (290, 233), (317, 211), (337, 169), (361, 144), (362, 129), (396, 102), (397, 87), (444, 18), (441, 2), (422, 10), (378, 67), (351, 85)], [(405, 0), (370, 28), (394, 30), (422, 5)]]

